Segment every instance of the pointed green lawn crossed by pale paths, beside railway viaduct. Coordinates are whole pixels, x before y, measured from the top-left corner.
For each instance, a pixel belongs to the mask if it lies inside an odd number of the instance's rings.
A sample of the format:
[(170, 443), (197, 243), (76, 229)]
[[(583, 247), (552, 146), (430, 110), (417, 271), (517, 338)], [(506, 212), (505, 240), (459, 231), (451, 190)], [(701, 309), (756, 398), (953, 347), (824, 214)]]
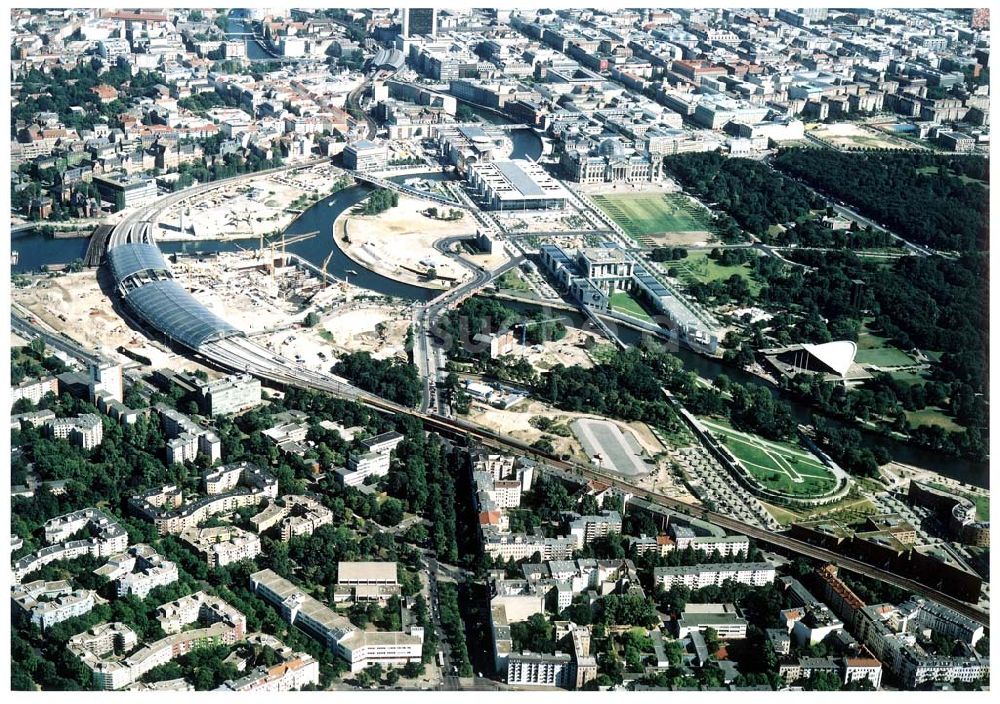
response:
[(809, 450), (765, 440), (717, 420), (702, 419), (713, 435), (763, 487), (795, 497), (821, 496), (837, 486), (833, 473)]

